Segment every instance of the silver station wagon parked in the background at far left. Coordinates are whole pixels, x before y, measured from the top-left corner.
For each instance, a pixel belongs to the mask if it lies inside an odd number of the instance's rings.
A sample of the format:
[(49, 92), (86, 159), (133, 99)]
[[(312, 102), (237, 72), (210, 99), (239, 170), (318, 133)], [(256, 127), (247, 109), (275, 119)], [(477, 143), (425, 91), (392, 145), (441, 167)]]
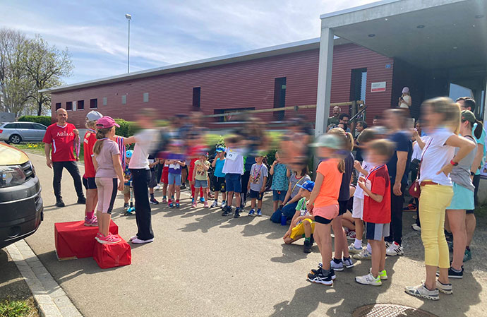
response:
[(46, 133), (44, 124), (35, 122), (6, 122), (0, 124), (0, 140), (18, 144), (21, 141), (42, 141)]

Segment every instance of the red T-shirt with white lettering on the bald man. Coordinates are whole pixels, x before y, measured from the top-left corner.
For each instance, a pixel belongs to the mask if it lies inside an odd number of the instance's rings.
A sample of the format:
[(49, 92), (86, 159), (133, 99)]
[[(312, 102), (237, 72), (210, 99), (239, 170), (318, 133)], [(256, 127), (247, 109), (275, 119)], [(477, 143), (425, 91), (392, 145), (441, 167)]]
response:
[(47, 127), (46, 134), (44, 134), (42, 142), (52, 145), (52, 162), (66, 162), (75, 160), (73, 154), (75, 129), (76, 127), (73, 124), (66, 124), (66, 126), (51, 124)]

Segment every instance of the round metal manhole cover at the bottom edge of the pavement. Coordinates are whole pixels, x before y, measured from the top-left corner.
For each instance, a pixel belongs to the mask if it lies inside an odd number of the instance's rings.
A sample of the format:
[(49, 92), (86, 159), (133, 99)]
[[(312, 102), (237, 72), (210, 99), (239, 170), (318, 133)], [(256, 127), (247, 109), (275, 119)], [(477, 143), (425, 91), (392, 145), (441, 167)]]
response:
[(395, 304), (373, 304), (361, 306), (352, 317), (438, 317), (428, 311)]

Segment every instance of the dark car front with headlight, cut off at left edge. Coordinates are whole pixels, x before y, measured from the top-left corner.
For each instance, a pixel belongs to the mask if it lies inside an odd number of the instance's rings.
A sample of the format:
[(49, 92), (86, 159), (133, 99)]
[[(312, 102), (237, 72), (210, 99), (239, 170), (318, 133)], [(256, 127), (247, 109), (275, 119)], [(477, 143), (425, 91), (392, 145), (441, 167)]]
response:
[(40, 181), (29, 157), (0, 143), (0, 248), (33, 234), (43, 211)]

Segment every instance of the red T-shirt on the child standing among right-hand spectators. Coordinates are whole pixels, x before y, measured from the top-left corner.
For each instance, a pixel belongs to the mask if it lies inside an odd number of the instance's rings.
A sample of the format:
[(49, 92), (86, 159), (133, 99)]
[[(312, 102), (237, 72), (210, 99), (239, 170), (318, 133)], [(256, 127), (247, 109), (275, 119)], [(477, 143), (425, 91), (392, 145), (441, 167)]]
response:
[(364, 193), (363, 221), (390, 223), (390, 179), (387, 165), (372, 169), (368, 174), (366, 186), (372, 193), (383, 196), (383, 200), (378, 203)]

